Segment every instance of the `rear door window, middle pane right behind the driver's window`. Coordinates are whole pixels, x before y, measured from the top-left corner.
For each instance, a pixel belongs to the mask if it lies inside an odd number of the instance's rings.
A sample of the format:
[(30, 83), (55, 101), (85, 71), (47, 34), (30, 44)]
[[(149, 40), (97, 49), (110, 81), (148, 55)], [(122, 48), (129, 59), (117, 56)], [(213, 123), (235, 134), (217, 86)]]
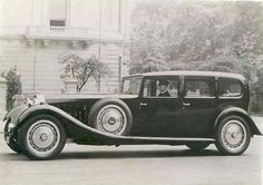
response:
[(215, 81), (213, 78), (185, 80), (185, 97), (206, 98), (214, 96), (215, 96)]

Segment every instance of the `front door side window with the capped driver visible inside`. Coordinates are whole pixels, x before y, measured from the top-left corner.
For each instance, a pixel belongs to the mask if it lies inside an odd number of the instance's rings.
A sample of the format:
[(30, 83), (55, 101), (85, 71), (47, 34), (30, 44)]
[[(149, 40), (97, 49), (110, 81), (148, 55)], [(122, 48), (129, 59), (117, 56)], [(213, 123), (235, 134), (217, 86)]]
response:
[(146, 79), (144, 82), (144, 97), (176, 98), (178, 97), (178, 78)]

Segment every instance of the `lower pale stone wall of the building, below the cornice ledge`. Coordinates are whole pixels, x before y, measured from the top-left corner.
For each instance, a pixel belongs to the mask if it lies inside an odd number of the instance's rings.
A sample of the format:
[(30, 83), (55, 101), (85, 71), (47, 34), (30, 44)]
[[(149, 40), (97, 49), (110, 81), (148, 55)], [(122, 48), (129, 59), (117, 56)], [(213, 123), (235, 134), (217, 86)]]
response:
[[(28, 46), (27, 40), (0, 39), (0, 72), (16, 67), (21, 76), (22, 94), (61, 94), (65, 93), (65, 84), (61, 79), (64, 65), (59, 58), (68, 52), (76, 52), (82, 58), (91, 55), (98, 56), (98, 43), (81, 48), (81, 42), (71, 48), (70, 41), (49, 40), (47, 45), (42, 40), (36, 40)], [(119, 87), (119, 57), (123, 49), (115, 43), (101, 45), (101, 62), (106, 64), (110, 76), (101, 78), (99, 93), (110, 93)], [(98, 58), (98, 57), (97, 57)], [(98, 84), (89, 80), (81, 90), (82, 94), (97, 94)]]

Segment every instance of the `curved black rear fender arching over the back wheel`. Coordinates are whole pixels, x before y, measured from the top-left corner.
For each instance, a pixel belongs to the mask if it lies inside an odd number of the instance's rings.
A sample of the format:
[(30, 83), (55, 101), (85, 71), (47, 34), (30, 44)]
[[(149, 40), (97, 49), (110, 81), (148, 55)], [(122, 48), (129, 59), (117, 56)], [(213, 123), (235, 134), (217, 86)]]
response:
[(244, 118), (247, 124), (251, 127), (252, 134), (253, 135), (262, 135), (262, 133), (260, 132), (260, 129), (257, 128), (257, 126), (255, 125), (254, 120), (251, 118), (251, 116), (249, 115), (249, 113), (240, 107), (228, 107), (223, 109), (216, 117), (215, 121), (214, 121), (214, 129), (216, 129), (216, 126), (220, 124), (220, 121), (225, 118), (228, 115), (237, 115), (241, 116), (242, 118)]

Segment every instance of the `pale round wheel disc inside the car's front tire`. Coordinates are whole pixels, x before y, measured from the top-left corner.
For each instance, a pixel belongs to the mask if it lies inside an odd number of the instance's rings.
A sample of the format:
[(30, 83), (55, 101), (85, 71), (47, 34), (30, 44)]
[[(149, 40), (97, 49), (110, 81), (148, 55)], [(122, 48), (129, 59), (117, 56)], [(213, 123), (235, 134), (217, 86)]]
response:
[(48, 156), (58, 146), (59, 129), (50, 120), (38, 120), (32, 124), (27, 134), (27, 144), (31, 152), (40, 157)]

